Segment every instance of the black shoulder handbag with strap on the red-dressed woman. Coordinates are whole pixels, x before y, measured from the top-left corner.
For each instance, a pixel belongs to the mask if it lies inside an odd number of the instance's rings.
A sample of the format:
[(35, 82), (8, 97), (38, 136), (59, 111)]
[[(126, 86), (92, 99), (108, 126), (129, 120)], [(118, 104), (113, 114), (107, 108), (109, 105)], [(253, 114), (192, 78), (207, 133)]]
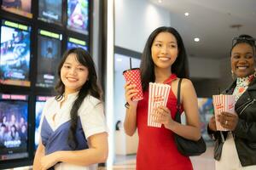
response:
[[(177, 85), (177, 112), (175, 115), (174, 121), (181, 122), (181, 104), (180, 104), (180, 85), (182, 82), (182, 78), (179, 79)], [(174, 133), (174, 140), (177, 145), (177, 150), (183, 156), (200, 156), (207, 150), (207, 145), (204, 139), (201, 137), (198, 141), (184, 139), (183, 137), (179, 136), (177, 133)]]

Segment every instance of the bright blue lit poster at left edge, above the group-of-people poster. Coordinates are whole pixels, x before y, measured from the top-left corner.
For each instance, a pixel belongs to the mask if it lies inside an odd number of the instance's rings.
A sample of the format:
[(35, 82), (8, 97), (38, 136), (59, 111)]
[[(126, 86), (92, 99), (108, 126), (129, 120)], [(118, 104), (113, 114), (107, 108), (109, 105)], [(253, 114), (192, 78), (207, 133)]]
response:
[(31, 27), (2, 20), (0, 82), (30, 86)]

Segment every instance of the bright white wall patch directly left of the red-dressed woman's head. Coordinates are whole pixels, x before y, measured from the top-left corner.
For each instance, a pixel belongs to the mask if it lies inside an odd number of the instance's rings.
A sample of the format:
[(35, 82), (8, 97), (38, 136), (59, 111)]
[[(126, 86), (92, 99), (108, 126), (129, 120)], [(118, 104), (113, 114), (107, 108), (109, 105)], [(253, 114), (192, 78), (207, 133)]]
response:
[(114, 21), (114, 44), (140, 53), (155, 28), (171, 26), (170, 13), (148, 0), (115, 0)]

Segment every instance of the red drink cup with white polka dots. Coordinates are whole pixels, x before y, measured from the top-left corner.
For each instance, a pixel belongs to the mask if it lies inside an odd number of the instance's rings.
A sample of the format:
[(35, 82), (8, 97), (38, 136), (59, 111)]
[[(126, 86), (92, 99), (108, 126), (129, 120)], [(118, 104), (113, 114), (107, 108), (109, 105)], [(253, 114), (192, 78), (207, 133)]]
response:
[(123, 72), (125, 81), (130, 81), (131, 84), (136, 84), (138, 90), (137, 95), (132, 97), (132, 101), (138, 101), (143, 99), (143, 87), (141, 81), (141, 71), (139, 68), (129, 69)]

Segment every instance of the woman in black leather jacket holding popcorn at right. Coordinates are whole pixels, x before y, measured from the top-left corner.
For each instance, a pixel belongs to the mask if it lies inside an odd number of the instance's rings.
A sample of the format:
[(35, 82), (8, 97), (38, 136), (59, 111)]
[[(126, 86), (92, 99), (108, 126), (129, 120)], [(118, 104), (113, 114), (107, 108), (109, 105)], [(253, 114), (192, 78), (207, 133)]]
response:
[[(216, 170), (256, 169), (256, 72), (255, 39), (241, 35), (233, 39), (230, 51), (232, 76), (236, 80), (223, 94), (236, 97), (235, 114), (212, 116), (208, 133), (215, 141)], [(230, 129), (220, 132), (216, 121)]]

